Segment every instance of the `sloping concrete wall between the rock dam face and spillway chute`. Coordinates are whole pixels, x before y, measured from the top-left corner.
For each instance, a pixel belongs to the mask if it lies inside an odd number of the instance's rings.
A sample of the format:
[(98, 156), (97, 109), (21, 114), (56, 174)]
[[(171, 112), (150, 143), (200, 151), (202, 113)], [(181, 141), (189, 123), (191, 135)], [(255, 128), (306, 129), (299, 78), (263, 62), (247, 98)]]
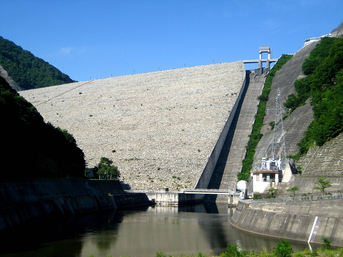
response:
[(232, 120), (235, 116), (240, 98), (241, 98), (243, 91), (245, 89), (245, 86), (246, 86), (246, 72), (245, 72), (245, 67), (244, 67), (243, 62), (242, 62), (242, 66), (243, 66), (244, 80), (243, 80), (243, 84), (241, 86), (241, 89), (239, 91), (237, 100), (236, 100), (236, 102), (235, 102), (235, 104), (234, 104), (234, 106), (233, 106), (233, 108), (229, 114), (229, 117), (227, 118), (227, 120), (225, 122), (225, 125), (223, 127), (222, 132), (218, 136), (217, 142), (216, 142), (215, 146), (213, 147), (213, 150), (212, 150), (209, 158), (206, 161), (205, 167), (204, 167), (204, 169), (203, 169), (203, 171), (202, 171), (202, 173), (201, 173), (201, 175), (197, 181), (195, 188), (207, 188), (209, 185), (209, 182), (211, 180), (213, 170), (216, 166), (217, 160), (218, 160), (219, 155), (222, 151), (227, 133), (230, 129), (230, 126), (231, 126)]

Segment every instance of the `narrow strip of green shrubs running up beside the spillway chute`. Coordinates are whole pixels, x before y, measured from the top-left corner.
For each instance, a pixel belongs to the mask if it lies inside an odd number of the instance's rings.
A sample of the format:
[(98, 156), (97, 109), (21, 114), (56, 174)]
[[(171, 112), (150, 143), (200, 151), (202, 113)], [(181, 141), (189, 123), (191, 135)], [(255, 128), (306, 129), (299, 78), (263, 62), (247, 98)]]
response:
[(250, 170), (252, 169), (252, 163), (254, 160), (254, 155), (256, 151), (256, 146), (260, 139), (262, 138), (262, 134), (260, 133), (261, 127), (263, 126), (263, 119), (265, 116), (265, 108), (267, 106), (267, 101), (269, 99), (269, 93), (271, 91), (271, 85), (275, 73), (281, 69), (281, 67), (288, 62), (292, 58), (292, 55), (283, 54), (279, 61), (273, 66), (273, 68), (269, 71), (269, 73), (265, 76), (265, 82), (262, 90), (261, 96), (258, 97), (260, 103), (258, 105), (257, 113), (255, 115), (255, 122), (252, 126), (252, 132), (249, 135), (249, 141), (247, 146), (246, 156), (242, 161), (242, 170), (238, 173), (237, 178), (238, 180), (245, 180), (249, 181)]

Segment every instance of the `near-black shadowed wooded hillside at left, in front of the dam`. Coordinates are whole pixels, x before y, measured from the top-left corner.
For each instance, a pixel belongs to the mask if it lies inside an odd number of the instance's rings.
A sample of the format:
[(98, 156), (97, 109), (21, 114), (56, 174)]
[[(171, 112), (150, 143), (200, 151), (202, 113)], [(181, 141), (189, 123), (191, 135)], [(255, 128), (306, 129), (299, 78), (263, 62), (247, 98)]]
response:
[(0, 76), (1, 178), (82, 178), (83, 151)]

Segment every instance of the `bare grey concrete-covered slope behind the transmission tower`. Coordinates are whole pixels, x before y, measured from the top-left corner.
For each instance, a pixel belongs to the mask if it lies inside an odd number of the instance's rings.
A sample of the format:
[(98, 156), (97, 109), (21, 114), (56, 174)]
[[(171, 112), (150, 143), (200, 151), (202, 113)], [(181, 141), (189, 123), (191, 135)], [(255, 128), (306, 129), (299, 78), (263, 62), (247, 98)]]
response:
[[(332, 30), (332, 36), (342, 37), (343, 36), (343, 23), (334, 30)], [(280, 88), (281, 103), (283, 104), (286, 98), (290, 94), (296, 94), (294, 88), (294, 82), (302, 77), (305, 77), (302, 71), (302, 64), (306, 58), (309, 57), (310, 52), (320, 44), (321, 40), (312, 42), (299, 51), (297, 51), (291, 60), (289, 60), (283, 67), (276, 72), (271, 85), (271, 92), (269, 94), (269, 100), (267, 102), (267, 109), (275, 106), (275, 98), (277, 89)], [(266, 110), (267, 114), (267, 110)], [(261, 160), (261, 158), (267, 152), (268, 156), (271, 156), (272, 145), (273, 145), (273, 131), (269, 125), (270, 122), (275, 120), (275, 112), (270, 111), (268, 115), (264, 117), (263, 123), (265, 124), (261, 128), (263, 137), (256, 147), (256, 153), (254, 156), (254, 164)], [(284, 121), (285, 130), (285, 142), (287, 154), (296, 154), (299, 152), (297, 143), (304, 137), (304, 132), (308, 125), (313, 120), (312, 106), (308, 103), (305, 106), (297, 108), (295, 111), (287, 117)]]

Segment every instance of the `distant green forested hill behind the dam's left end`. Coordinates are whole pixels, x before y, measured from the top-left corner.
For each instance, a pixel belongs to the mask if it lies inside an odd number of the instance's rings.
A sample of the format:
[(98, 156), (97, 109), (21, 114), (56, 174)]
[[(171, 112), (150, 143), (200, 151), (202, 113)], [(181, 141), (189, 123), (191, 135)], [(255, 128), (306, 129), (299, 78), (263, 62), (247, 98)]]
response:
[(48, 62), (0, 36), (0, 65), (24, 89), (75, 82)]

